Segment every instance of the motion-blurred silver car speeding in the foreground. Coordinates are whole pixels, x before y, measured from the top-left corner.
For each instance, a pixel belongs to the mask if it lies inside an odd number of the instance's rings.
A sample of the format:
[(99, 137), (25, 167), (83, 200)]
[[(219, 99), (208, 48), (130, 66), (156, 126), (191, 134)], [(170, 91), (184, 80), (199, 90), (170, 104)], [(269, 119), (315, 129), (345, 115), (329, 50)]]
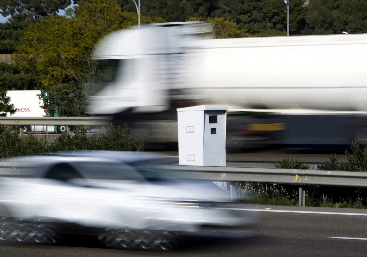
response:
[(93, 235), (105, 247), (167, 250), (181, 236), (243, 236), (252, 212), (211, 181), (171, 179), (164, 156), (79, 152), (9, 159), (0, 168), (0, 240), (56, 243)]

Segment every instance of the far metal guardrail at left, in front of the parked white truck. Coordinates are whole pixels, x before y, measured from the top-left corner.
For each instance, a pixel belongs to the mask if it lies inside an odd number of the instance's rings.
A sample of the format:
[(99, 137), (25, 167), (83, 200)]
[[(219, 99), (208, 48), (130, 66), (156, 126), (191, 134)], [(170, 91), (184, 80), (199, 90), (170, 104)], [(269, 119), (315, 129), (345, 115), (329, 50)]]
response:
[(107, 126), (110, 117), (0, 117), (0, 125), (21, 126)]

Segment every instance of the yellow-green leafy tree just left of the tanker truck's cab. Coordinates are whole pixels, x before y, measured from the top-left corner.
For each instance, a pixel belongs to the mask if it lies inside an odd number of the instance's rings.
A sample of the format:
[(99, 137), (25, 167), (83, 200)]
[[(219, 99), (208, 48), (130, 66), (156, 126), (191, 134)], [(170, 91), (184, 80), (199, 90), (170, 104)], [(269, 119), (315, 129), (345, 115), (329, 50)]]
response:
[[(141, 22), (152, 19), (142, 16)], [(28, 23), (14, 59), (23, 71), (39, 78), (49, 113), (58, 106), (59, 115), (80, 116), (85, 113), (83, 83), (97, 70), (91, 59), (95, 44), (106, 34), (137, 23), (136, 13), (121, 11), (112, 0), (83, 1), (66, 10), (65, 17)], [(70, 106), (72, 112), (66, 110)]]

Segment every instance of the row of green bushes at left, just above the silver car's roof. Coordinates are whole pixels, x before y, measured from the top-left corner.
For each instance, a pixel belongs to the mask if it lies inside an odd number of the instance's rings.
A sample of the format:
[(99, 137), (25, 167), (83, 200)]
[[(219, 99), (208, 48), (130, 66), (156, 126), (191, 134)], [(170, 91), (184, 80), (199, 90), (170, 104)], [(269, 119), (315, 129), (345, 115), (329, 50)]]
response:
[(143, 151), (143, 148), (143, 141), (138, 146), (135, 145), (126, 125), (111, 126), (102, 137), (90, 137), (86, 129), (81, 129), (74, 135), (64, 133), (51, 143), (43, 138), (35, 138), (32, 134), (19, 137), (18, 133), (8, 127), (0, 133), (0, 158), (80, 150)]

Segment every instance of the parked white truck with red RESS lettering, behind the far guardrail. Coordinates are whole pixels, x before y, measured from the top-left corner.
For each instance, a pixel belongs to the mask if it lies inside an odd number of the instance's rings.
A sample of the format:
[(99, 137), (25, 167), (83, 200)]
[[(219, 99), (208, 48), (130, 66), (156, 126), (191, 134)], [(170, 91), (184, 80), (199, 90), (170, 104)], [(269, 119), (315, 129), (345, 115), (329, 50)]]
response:
[[(41, 94), (40, 90), (9, 90), (7, 92), (10, 97), (11, 104), (14, 104), (14, 108), (17, 109), (13, 115), (7, 115), (12, 117), (43, 117), (46, 116), (47, 110), (41, 108), (43, 105), (38, 95)], [(54, 114), (57, 116), (57, 113)], [(68, 131), (67, 126), (41, 126), (41, 125), (23, 125), (19, 126), (19, 129), (23, 130), (23, 133), (32, 132), (58, 132), (64, 133)]]

